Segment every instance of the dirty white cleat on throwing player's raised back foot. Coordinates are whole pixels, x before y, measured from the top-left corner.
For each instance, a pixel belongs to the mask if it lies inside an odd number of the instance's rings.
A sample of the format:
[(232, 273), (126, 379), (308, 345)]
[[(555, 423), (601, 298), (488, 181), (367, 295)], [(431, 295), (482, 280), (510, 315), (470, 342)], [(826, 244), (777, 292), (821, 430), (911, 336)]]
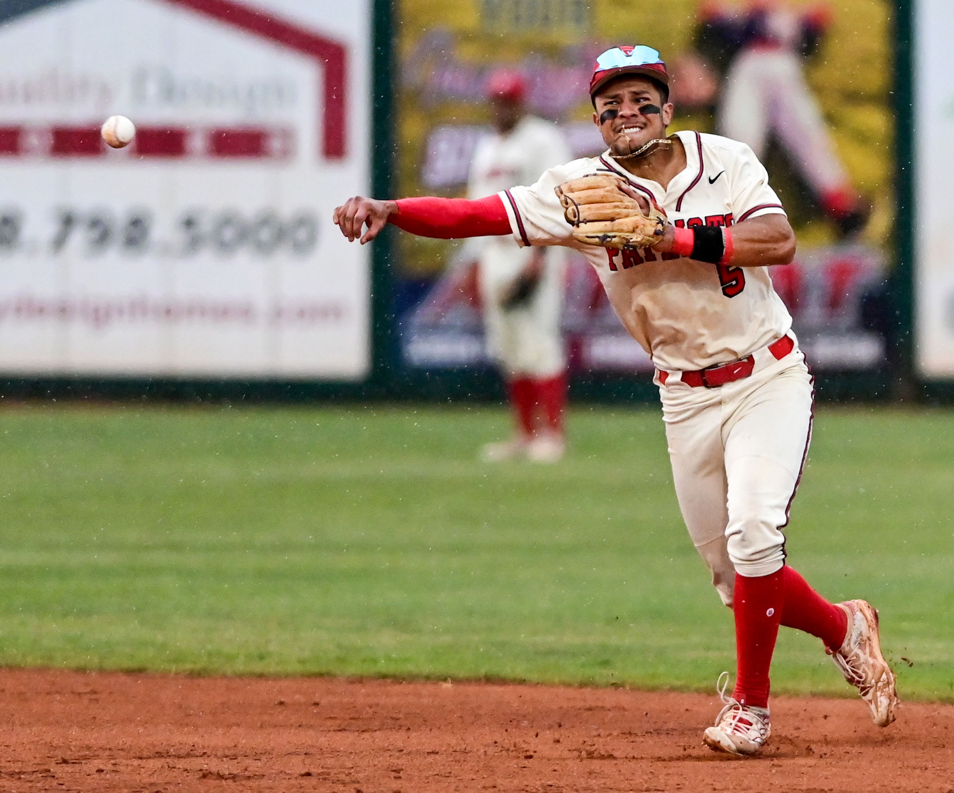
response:
[(848, 633), (838, 651), (825, 652), (868, 703), (872, 720), (886, 727), (895, 720), (895, 705), (901, 700), (895, 691), (894, 672), (881, 655), (878, 611), (864, 600), (846, 600), (838, 605), (848, 614)]

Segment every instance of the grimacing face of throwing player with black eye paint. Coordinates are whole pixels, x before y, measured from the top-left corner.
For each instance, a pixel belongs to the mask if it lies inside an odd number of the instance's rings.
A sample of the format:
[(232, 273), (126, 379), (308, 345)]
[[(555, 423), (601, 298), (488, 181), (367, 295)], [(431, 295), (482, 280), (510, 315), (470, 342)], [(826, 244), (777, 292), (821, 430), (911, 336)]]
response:
[(614, 155), (628, 155), (666, 136), (673, 104), (662, 104), (653, 80), (638, 74), (618, 77), (596, 94), (593, 123)]

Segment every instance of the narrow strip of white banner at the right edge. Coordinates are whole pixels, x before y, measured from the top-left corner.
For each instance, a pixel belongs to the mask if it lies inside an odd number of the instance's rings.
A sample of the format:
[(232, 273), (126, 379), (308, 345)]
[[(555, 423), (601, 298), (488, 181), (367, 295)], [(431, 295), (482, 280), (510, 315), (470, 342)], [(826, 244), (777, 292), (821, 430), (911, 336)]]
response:
[(954, 376), (954, 13), (918, 0), (915, 27), (915, 322), (926, 377)]

